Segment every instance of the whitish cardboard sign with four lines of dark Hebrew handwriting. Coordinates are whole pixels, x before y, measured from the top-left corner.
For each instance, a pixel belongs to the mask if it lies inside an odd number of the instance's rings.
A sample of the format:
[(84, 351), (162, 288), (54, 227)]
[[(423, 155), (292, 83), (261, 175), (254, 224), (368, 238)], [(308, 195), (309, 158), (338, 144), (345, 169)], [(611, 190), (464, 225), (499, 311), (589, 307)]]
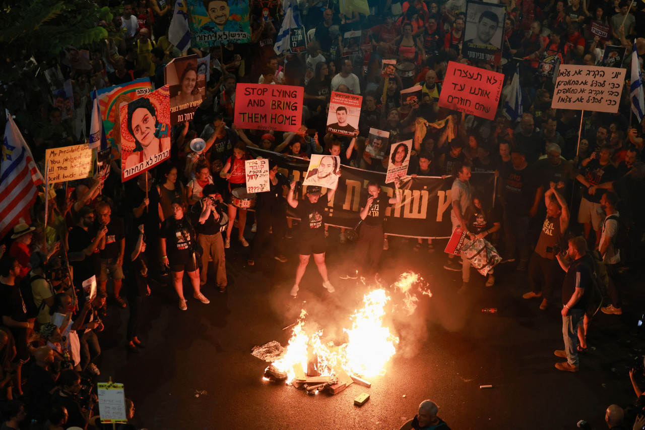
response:
[(551, 107), (618, 112), (624, 68), (561, 65)]

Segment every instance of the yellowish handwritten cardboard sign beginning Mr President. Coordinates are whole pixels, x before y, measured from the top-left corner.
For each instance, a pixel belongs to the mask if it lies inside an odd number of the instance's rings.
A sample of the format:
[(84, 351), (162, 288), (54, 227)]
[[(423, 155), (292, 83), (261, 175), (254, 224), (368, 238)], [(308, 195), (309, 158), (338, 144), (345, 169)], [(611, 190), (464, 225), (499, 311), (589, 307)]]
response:
[(94, 159), (88, 145), (50, 148), (45, 152), (49, 183), (74, 181), (94, 174)]

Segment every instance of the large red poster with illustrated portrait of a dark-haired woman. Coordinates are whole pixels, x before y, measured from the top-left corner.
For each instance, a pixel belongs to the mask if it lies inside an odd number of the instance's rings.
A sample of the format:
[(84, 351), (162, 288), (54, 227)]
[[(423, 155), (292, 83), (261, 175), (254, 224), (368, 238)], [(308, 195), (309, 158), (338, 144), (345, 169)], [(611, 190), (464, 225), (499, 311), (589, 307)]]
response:
[(127, 181), (170, 158), (168, 85), (121, 106), (121, 179)]

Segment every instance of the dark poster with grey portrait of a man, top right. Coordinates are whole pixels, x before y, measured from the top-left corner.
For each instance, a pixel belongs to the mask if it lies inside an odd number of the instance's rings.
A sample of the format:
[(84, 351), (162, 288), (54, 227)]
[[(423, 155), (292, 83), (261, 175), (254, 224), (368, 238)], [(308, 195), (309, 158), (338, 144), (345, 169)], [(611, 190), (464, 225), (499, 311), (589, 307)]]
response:
[(499, 65), (504, 43), (506, 6), (468, 1), (462, 56), (473, 65)]

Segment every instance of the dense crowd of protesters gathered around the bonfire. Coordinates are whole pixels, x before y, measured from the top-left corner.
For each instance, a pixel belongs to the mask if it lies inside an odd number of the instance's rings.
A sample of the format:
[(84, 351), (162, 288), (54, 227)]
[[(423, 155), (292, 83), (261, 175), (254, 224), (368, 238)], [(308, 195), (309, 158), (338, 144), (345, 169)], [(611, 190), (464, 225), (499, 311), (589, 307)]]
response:
[[(448, 61), (469, 62), (462, 52), (465, 0), (369, 1), (369, 16), (341, 14), (334, 0), (299, 2), (310, 34), (306, 52), (280, 56), (273, 46), (281, 5), (273, 15), (277, 19), (252, 21), (251, 43), (182, 53), (168, 40), (172, 1), (99, 3), (114, 8), (112, 22), (101, 23), (114, 36), (92, 50), (88, 70), (61, 61), (77, 99), (89, 97), (92, 88), (139, 77), (150, 77), (158, 88), (164, 65), (186, 54), (210, 54), (210, 80), (194, 120), (172, 128), (169, 161), (125, 187), (115, 159), (108, 178), (55, 189), (48, 214), (39, 200), (32, 207), (31, 225), (16, 225), (6, 238), (0, 249), (3, 429), (19, 428), (26, 417), (52, 430), (94, 425), (91, 419), (98, 408), (92, 409), (96, 398), (87, 387), (100, 373), (100, 332), (117, 329), (104, 326), (108, 306), (112, 311), (128, 309), (125, 346), (136, 353), (141, 347), (139, 316), (150, 285), (172, 285), (184, 311), (197, 302), (208, 304), (208, 296), (226, 292), (230, 247), (248, 247), (243, 253), (247, 265), (263, 259), (285, 263), (293, 241), (299, 265), (291, 294), (299, 291), (310, 254), (323, 287), (334, 291), (324, 254), (327, 242), (336, 240), (330, 231), (340, 235), (341, 243), (347, 231), (326, 229), (323, 207), (333, 190), (323, 194), (319, 187), (310, 187), (297, 200), (295, 183), (271, 160), (270, 191), (257, 196), (254, 212), (238, 207), (231, 196), (245, 186), (249, 148), (305, 160), (312, 154), (331, 154), (340, 156), (344, 166), (386, 172), (389, 149), (383, 160), (365, 151), (370, 128), (389, 132), (390, 142), (396, 143), (415, 138), (418, 119), (435, 123), (452, 116), (452, 130), (428, 127), (422, 138), (416, 135), (408, 175), (453, 176), (453, 229), (462, 227), (468, 240), (484, 238), (495, 245), (503, 258), (501, 267), (526, 271), (531, 291), (524, 298), (541, 298), (542, 310), (562, 307), (566, 347), (555, 353), (567, 361), (558, 369), (578, 371), (577, 353), (588, 347), (586, 330), (595, 303), (590, 298), (590, 267), (604, 263), (606, 270), (606, 291), (601, 292), (610, 302), (602, 311), (622, 313), (620, 276), (644, 256), (645, 127), (632, 118), (629, 85), (622, 90), (616, 114), (584, 112), (582, 117), (579, 111), (551, 108), (553, 80), (539, 74), (539, 67), (548, 55), (565, 64), (593, 65), (606, 45), (616, 45), (627, 48), (619, 67), (628, 68), (636, 43), (642, 68), (645, 39), (636, 39), (645, 34), (642, 3), (634, 2), (630, 10), (624, 0), (502, 0), (507, 6), (502, 61), (475, 65), (504, 73), (510, 83), (519, 64), (524, 113), (511, 120), (500, 109), (492, 121), (439, 106)], [(610, 40), (591, 34), (591, 19), (611, 26)], [(342, 35), (350, 30), (362, 30), (361, 51), (346, 56)], [(386, 81), (382, 59), (411, 63), (413, 73), (407, 70), (406, 76)], [(304, 87), (303, 128), (292, 133), (236, 128), (235, 85), (240, 82)], [(422, 99), (402, 104), (401, 90), (417, 84)], [(326, 132), (332, 91), (363, 96), (353, 138)], [(509, 96), (506, 90), (504, 95)], [(76, 143), (73, 119), (90, 114), (82, 108), (64, 110), (44, 103), (42, 127), (25, 133), (41, 167), (44, 149)], [(206, 142), (199, 153), (190, 147), (197, 137)], [(473, 172), (494, 172), (494, 206), (489, 196), (471, 190)], [(393, 197), (381, 185), (370, 182), (362, 190), (357, 214), (357, 220), (364, 220), (357, 245), (361, 267), (344, 279), (377, 276), (381, 253), (390, 246), (383, 219), (386, 207), (401, 203), (399, 181)], [(287, 217), (288, 206), (303, 220), (299, 225)], [(419, 239), (410, 247), (413, 252), (434, 250), (432, 240), (424, 245)], [(462, 272), (460, 293), (473, 288), (467, 258), (446, 258), (444, 267)], [(503, 273), (490, 272), (486, 287)], [(584, 279), (576, 280), (574, 273), (583, 273)], [(86, 281), (93, 276), (96, 287), (88, 296)], [(211, 284), (217, 288), (209, 289)], [(194, 300), (184, 295), (188, 285)], [(560, 291), (562, 303), (556, 303)], [(127, 406), (131, 418), (134, 405), (128, 400)], [(435, 407), (432, 415), (436, 413)]]

